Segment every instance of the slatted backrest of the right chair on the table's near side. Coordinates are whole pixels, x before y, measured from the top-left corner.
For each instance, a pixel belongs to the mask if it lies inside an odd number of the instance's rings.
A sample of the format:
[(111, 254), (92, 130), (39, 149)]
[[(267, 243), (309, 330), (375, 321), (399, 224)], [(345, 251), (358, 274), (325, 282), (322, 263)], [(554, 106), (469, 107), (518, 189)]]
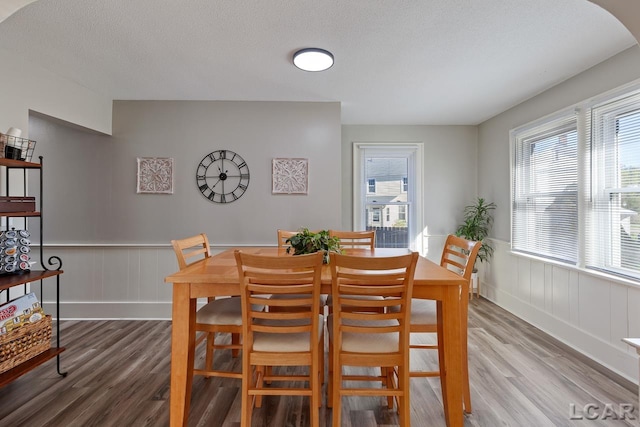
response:
[[(363, 342), (376, 340), (375, 334), (398, 334), (400, 347), (383, 352), (402, 352), (405, 346), (408, 348), (411, 295), (418, 253), (358, 257), (332, 252), (330, 258), (336, 348), (341, 348), (343, 333), (369, 334)], [(390, 310), (391, 307), (398, 308)]]

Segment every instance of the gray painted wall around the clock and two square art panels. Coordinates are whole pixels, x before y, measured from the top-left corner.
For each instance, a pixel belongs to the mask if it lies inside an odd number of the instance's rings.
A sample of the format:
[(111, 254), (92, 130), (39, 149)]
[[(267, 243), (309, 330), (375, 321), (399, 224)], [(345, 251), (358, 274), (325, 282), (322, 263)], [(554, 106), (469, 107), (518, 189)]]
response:
[[(113, 112), (111, 138), (31, 118), (45, 157), (46, 242), (168, 244), (206, 232), (218, 244), (272, 244), (277, 228), (341, 224), (339, 103), (117, 101)], [(251, 172), (226, 205), (195, 183), (200, 160), (219, 149)], [(175, 159), (174, 194), (136, 193), (138, 157)], [(271, 194), (275, 157), (309, 159), (308, 195)]]

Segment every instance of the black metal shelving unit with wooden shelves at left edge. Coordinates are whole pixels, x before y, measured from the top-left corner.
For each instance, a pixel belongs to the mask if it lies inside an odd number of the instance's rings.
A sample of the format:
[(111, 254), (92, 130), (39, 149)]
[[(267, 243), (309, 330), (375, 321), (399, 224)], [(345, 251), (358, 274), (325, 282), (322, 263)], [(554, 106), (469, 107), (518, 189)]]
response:
[[(41, 353), (31, 359), (28, 359), (21, 364), (15, 366), (14, 368), (3, 372), (0, 374), (0, 387), (8, 384), (20, 376), (26, 374), (32, 369), (40, 366), (41, 364), (47, 362), (48, 360), (53, 359), (54, 357), (57, 359), (56, 366), (58, 374), (65, 377), (67, 376), (66, 372), (61, 372), (60, 370), (60, 353), (62, 353), (65, 349), (60, 346), (60, 275), (63, 273), (62, 271), (62, 261), (57, 256), (49, 257), (47, 260), (47, 264), (44, 262), (44, 254), (43, 254), (43, 221), (42, 221), (42, 199), (43, 199), (43, 178), (42, 178), (42, 156), (39, 157), (40, 162), (34, 163), (31, 161), (22, 161), (22, 160), (14, 160), (8, 158), (0, 158), (0, 166), (5, 166), (5, 194), (7, 196), (11, 196), (10, 193), (10, 175), (11, 170), (20, 169), (23, 171), (23, 194), (22, 196), (26, 196), (27, 193), (27, 171), (28, 170), (38, 170), (39, 178), (40, 178), (40, 186), (39, 186), (39, 195), (38, 195), (38, 205), (40, 211), (26, 211), (26, 212), (2, 212), (0, 211), (0, 217), (6, 218), (6, 227), (9, 228), (9, 218), (23, 218), (25, 223), (25, 228), (28, 225), (28, 222), (32, 218), (39, 219), (39, 229), (40, 229), (40, 245), (39, 245), (39, 255), (40, 255), (40, 269), (26, 271), (18, 274), (5, 274), (0, 275), (0, 292), (6, 292), (8, 296), (8, 292), (11, 288), (16, 286), (24, 286), (25, 293), (27, 284), (33, 284), (35, 282), (40, 282), (40, 295), (43, 295), (43, 287), (45, 279), (50, 279), (47, 282), (51, 282), (55, 280), (56, 286), (56, 346), (51, 347), (49, 350)], [(28, 228), (27, 228), (28, 229)], [(8, 298), (7, 298), (8, 299)]]

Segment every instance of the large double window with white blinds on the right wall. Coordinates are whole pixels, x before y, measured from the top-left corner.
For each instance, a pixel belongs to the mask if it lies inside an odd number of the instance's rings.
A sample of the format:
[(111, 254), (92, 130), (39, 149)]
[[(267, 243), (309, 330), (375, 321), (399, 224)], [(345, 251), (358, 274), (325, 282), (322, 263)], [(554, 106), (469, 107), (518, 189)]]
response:
[(640, 90), (511, 133), (512, 249), (640, 279)]

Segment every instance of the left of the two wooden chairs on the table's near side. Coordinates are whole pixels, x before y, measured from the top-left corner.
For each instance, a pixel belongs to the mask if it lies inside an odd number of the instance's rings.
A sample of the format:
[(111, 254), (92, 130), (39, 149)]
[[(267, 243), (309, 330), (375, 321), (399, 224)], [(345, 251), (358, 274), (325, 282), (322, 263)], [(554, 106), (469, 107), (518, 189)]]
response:
[[(319, 426), (324, 372), (324, 318), (320, 315), (323, 254), (291, 257), (235, 252), (242, 298), (242, 413), (240, 425), (251, 426), (254, 405), (264, 395), (309, 396), (311, 426)], [(265, 294), (282, 310), (257, 311)], [(305, 295), (301, 298), (301, 295)], [(272, 368), (308, 366), (308, 375), (275, 375)], [(268, 369), (267, 369), (268, 367)], [(306, 382), (307, 387), (273, 387), (274, 381)]]

